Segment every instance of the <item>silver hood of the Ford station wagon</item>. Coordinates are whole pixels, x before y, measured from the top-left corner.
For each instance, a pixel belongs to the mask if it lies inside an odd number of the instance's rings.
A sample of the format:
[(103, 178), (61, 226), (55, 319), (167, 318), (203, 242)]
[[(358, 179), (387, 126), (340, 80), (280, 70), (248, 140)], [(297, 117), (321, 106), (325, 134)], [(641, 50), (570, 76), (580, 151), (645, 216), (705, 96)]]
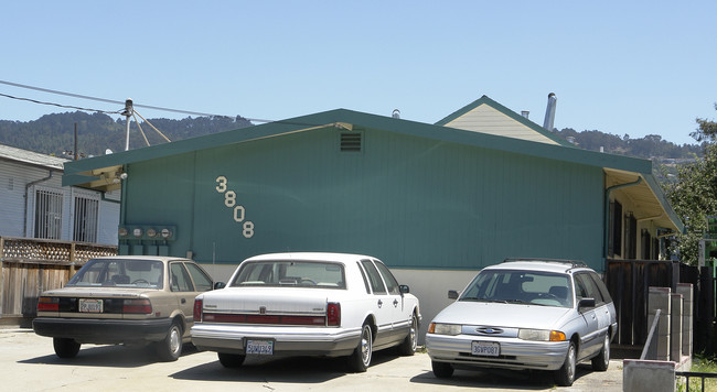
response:
[(572, 313), (574, 309), (568, 307), (458, 301), (441, 311), (434, 322), (554, 329)]

